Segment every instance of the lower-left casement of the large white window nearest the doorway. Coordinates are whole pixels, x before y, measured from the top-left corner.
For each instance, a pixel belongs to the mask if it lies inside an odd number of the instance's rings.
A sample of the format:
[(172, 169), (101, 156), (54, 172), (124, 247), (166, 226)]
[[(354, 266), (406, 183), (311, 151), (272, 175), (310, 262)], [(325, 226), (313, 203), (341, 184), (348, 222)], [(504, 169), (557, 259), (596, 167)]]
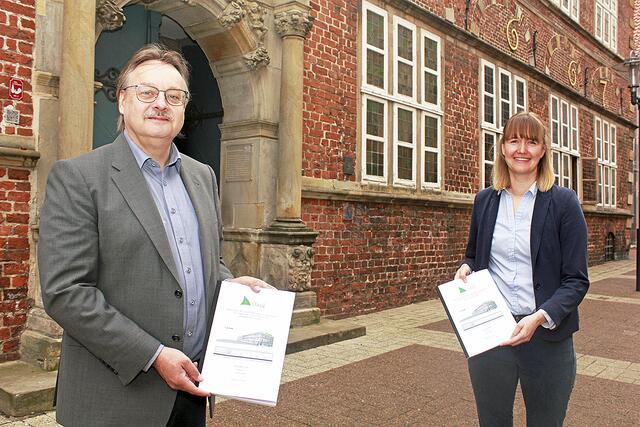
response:
[(362, 177), (384, 183), (387, 181), (387, 102), (365, 95), (362, 104)]

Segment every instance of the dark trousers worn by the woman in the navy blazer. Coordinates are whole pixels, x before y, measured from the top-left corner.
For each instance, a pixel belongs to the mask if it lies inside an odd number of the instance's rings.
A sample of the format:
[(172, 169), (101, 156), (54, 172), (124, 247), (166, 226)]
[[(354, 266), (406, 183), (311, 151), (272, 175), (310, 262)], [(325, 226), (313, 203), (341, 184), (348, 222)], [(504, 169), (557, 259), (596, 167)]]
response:
[(513, 426), (518, 381), (527, 426), (562, 426), (576, 379), (572, 337), (550, 342), (534, 335), (528, 343), (471, 357), (468, 364), (481, 427)]

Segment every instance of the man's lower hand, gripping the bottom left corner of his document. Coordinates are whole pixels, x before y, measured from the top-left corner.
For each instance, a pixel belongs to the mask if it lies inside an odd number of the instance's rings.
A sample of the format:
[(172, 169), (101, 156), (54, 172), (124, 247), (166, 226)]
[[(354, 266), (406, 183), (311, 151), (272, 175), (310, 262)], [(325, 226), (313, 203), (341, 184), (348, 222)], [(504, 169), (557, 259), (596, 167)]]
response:
[(163, 348), (153, 362), (153, 367), (172, 389), (196, 396), (209, 396), (208, 391), (200, 390), (194, 384), (196, 381), (202, 381), (202, 376), (196, 365), (180, 350)]

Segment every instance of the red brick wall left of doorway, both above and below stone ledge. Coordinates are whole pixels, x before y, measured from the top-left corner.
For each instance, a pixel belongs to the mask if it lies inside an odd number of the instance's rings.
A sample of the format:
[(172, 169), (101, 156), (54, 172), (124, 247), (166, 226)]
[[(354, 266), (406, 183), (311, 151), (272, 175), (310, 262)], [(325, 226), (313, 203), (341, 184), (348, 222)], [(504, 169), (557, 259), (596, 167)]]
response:
[[(0, 134), (32, 136), (31, 77), (35, 1), (0, 0)], [(21, 101), (9, 99), (9, 79), (23, 81)], [(18, 126), (5, 125), (4, 108), (20, 111)], [(32, 300), (29, 281), (31, 171), (0, 166), (0, 362), (19, 358), (20, 335)]]

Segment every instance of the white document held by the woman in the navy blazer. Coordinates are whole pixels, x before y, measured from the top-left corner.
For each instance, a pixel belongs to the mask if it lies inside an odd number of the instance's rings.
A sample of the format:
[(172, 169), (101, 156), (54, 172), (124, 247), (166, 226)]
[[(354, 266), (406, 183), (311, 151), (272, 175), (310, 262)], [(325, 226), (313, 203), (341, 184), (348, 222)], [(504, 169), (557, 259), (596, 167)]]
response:
[(465, 356), (472, 357), (509, 339), (516, 327), (498, 286), (488, 270), (438, 286), (440, 301), (449, 316)]

